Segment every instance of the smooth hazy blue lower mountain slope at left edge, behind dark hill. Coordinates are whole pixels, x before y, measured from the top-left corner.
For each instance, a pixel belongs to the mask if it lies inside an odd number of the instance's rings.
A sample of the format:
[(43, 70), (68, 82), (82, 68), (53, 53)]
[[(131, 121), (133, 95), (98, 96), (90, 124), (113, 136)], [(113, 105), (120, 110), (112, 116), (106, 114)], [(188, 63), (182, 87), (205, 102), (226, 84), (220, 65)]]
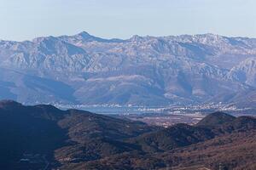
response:
[(49, 77), (29, 75), (21, 71), (0, 69), (0, 99), (17, 99), (23, 102), (72, 102), (74, 90), (65, 82)]

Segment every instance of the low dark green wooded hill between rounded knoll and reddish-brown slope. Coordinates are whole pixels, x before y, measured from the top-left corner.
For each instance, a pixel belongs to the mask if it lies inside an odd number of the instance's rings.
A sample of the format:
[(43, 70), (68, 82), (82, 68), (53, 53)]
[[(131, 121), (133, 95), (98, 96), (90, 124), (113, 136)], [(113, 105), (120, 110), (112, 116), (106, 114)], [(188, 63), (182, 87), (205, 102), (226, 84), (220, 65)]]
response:
[(208, 128), (181, 123), (152, 133), (142, 134), (130, 139), (129, 142), (137, 144), (145, 152), (162, 152), (206, 141), (214, 136), (215, 134)]

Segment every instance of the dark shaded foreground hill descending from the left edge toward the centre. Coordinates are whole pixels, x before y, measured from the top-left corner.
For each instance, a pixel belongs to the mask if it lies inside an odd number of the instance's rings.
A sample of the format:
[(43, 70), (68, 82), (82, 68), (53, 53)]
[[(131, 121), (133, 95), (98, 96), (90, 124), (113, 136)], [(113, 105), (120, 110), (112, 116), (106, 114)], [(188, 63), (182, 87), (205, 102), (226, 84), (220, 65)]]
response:
[[(61, 111), (51, 105), (24, 106), (0, 102), (1, 165), (15, 168), (24, 154), (94, 160), (124, 151), (133, 145), (121, 139), (153, 130), (142, 122), (130, 122), (87, 111)], [(53, 166), (53, 165), (52, 165)]]

